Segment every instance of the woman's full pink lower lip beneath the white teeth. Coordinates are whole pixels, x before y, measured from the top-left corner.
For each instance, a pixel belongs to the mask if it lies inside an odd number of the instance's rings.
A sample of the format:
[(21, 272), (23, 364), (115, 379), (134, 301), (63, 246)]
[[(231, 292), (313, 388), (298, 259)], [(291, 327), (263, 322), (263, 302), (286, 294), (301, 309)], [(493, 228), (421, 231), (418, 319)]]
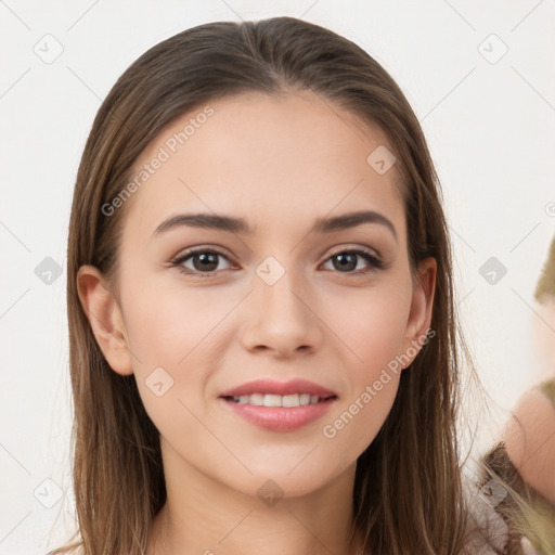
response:
[(293, 431), (322, 417), (337, 400), (336, 397), (302, 406), (258, 406), (236, 403), (220, 397), (235, 414), (247, 422), (272, 431)]

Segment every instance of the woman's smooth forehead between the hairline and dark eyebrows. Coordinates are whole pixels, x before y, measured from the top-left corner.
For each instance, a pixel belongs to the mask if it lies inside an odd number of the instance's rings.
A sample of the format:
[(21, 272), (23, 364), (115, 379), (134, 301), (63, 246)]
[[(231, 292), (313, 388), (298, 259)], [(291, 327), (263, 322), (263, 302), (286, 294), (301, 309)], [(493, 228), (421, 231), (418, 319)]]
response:
[(377, 126), (312, 92), (207, 102), (168, 125), (133, 165), (132, 179), (144, 180), (126, 203), (126, 228), (152, 234), (172, 214), (214, 211), (257, 230), (281, 221), (283, 231), (283, 222), (375, 209), (403, 236), (397, 169), (379, 173), (369, 163), (384, 147), (392, 150)]

